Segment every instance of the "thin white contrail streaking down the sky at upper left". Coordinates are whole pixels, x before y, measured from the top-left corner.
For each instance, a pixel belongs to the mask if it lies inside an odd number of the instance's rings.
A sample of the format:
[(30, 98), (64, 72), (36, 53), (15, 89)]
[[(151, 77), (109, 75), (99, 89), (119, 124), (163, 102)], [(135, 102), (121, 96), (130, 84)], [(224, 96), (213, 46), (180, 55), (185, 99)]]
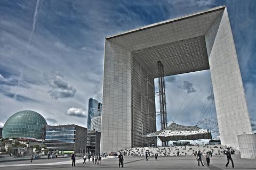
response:
[[(24, 61), (25, 61), (26, 58), (27, 58), (27, 55), (28, 55), (28, 47), (30, 46), (30, 41), (31, 41), (31, 39), (32, 39), (32, 37), (33, 37), (33, 33), (34, 33), (34, 31), (35, 31), (39, 2), (40, 2), (39, 0), (36, 0), (36, 7), (35, 7), (35, 13), (34, 13), (34, 20), (33, 20), (32, 30), (31, 30), (31, 32), (30, 32), (30, 34), (29, 34), (28, 44), (27, 44), (27, 47), (26, 47), (26, 49), (25, 49)], [(17, 85), (17, 87), (16, 87), (16, 90), (15, 90), (15, 93), (14, 93), (14, 96), (13, 96), (14, 99), (17, 98), (17, 92), (16, 92), (16, 91), (17, 91), (17, 88), (20, 86), (20, 81), (21, 81), (22, 78), (23, 78), (23, 69), (24, 69), (24, 64), (23, 64), (23, 66), (22, 66), (22, 68), (21, 68), (21, 74), (20, 74), (20, 77), (19, 77), (19, 79), (18, 79), (18, 85)]]

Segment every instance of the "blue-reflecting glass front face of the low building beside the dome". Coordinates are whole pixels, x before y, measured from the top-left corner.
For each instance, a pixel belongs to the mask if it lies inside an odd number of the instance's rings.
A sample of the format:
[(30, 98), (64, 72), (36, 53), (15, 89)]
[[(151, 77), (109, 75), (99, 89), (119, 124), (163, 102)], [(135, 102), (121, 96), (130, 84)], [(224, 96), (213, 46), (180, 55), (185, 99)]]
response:
[(47, 148), (59, 151), (74, 151), (75, 148), (75, 125), (47, 126), (45, 145)]

